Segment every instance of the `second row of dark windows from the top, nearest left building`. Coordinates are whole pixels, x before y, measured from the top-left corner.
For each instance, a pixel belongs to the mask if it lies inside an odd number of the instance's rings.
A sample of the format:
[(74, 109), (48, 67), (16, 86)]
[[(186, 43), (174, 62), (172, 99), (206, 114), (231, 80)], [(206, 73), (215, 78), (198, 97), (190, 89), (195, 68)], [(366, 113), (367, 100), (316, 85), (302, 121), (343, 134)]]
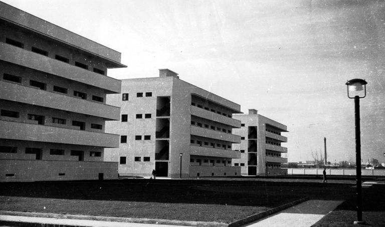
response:
[[(7, 74), (7, 73), (3, 74), (3, 79), (7, 80), (7, 81), (19, 83), (19, 84), (22, 83), (22, 77)], [(46, 83), (39, 82), (36, 80), (30, 80), (30, 86), (39, 88), (40, 90), (47, 90), (47, 84)], [(52, 90), (55, 92), (68, 94), (68, 88), (63, 88), (63, 87), (59, 87), (56, 85), (54, 85)], [(80, 92), (80, 91), (74, 91), (73, 96), (79, 97), (81, 99), (87, 99), (87, 94)], [(92, 95), (92, 100), (97, 101), (97, 102), (101, 102), (101, 103), (104, 101), (103, 97), (96, 96), (96, 95)]]

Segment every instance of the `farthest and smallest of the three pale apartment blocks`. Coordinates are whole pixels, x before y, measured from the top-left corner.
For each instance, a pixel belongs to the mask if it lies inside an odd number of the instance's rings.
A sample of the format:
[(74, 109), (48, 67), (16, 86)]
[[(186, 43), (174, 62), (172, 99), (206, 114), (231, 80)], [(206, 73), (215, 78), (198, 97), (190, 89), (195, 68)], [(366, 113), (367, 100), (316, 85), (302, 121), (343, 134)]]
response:
[(233, 118), (240, 120), (242, 126), (234, 129), (234, 134), (241, 136), (241, 143), (233, 144), (233, 149), (241, 152), (234, 165), (241, 166), (242, 175), (285, 174), (281, 163), (287, 163), (284, 157), (287, 148), (281, 143), (287, 142), (287, 137), (281, 133), (287, 132), (287, 127), (255, 109), (250, 109), (249, 114), (235, 114)]

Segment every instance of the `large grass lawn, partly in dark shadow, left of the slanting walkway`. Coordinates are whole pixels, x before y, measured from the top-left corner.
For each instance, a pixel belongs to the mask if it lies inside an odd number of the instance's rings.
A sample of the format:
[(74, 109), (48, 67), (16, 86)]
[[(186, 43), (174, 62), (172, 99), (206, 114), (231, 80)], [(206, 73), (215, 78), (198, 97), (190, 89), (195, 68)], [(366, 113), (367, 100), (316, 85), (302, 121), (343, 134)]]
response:
[(0, 210), (229, 223), (297, 200), (347, 199), (346, 184), (205, 180), (0, 183)]

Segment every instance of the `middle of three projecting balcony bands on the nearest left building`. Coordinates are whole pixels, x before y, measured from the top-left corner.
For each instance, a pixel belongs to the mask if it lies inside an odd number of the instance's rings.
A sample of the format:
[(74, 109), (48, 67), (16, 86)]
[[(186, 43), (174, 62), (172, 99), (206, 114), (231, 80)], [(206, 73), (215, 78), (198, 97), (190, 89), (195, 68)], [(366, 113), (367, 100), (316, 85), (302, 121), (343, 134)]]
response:
[(0, 81), (0, 99), (65, 110), (110, 120), (120, 119), (120, 108), (41, 89)]

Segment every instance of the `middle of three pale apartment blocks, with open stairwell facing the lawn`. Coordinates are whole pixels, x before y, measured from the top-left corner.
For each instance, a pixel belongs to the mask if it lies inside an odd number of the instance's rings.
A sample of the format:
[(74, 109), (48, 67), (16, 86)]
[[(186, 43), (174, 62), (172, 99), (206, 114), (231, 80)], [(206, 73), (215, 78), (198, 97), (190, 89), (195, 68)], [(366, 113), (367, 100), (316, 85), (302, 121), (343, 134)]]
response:
[[(232, 150), (241, 137), (232, 118), (240, 105), (159, 70), (159, 77), (122, 80), (122, 94), (107, 96), (121, 108), (120, 122), (107, 132), (120, 135), (120, 146), (106, 149), (105, 160), (119, 162), (120, 175), (235, 176), (232, 166), (240, 152)], [(181, 168), (180, 168), (181, 166)]]

